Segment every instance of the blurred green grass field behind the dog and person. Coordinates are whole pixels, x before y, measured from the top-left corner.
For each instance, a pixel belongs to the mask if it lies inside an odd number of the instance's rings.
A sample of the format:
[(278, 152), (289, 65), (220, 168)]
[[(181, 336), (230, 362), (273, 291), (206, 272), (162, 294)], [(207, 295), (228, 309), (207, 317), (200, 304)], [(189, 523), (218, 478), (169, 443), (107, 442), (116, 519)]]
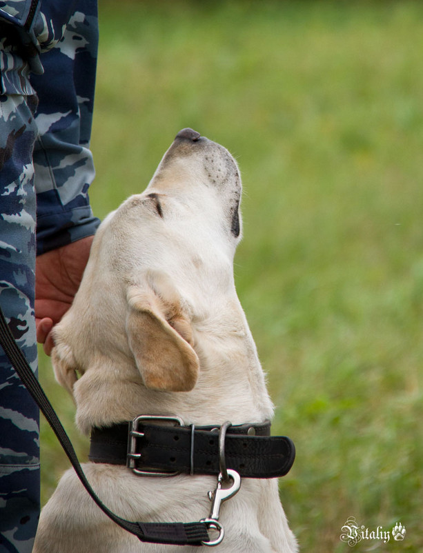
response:
[[(100, 3), (92, 150), (99, 217), (146, 187), (177, 131), (226, 146), (244, 181), (237, 290), (295, 441), (281, 498), (303, 551), (397, 521), (420, 552), (423, 3)], [(74, 408), (41, 383), (86, 459)], [(234, 393), (235, 393), (234, 383)], [(105, 409), (107, 406), (105, 405)], [(46, 423), (43, 501), (68, 461)]]

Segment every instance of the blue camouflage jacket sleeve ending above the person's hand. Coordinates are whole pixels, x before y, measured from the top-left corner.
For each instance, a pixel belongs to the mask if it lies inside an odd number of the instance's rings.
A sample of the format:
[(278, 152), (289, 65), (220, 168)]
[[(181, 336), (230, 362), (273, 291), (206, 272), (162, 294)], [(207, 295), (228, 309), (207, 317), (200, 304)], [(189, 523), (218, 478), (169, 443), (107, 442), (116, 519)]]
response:
[(95, 176), (89, 144), (97, 3), (81, 0), (76, 4), (63, 39), (41, 54), (44, 74), (30, 78), (39, 97), (35, 117), (39, 138), (34, 150), (38, 254), (90, 236), (99, 224), (88, 198)]

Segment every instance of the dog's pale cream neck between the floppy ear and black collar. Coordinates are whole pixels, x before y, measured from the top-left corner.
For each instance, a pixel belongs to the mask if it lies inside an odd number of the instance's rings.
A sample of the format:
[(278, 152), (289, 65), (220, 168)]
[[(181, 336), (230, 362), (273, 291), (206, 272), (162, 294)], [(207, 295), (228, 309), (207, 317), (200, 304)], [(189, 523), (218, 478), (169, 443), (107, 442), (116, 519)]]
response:
[(239, 301), (230, 323), (222, 320), (218, 309), (215, 316), (221, 319), (218, 325), (210, 318), (193, 324), (200, 372), (190, 392), (148, 390), (127, 356), (97, 357), (98, 366), (91, 366), (74, 387), (80, 430), (89, 434), (92, 427), (129, 421), (139, 414), (177, 414), (184, 423), (197, 425), (271, 419), (273, 405)]

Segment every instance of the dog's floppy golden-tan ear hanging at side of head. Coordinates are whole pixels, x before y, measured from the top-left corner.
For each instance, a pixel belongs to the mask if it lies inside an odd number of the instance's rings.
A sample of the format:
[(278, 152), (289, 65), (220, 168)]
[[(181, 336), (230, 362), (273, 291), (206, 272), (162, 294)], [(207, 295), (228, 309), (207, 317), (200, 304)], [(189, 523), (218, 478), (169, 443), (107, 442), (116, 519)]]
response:
[(170, 278), (148, 271), (128, 288), (126, 334), (144, 384), (153, 390), (188, 392), (197, 382), (199, 359), (181, 298)]

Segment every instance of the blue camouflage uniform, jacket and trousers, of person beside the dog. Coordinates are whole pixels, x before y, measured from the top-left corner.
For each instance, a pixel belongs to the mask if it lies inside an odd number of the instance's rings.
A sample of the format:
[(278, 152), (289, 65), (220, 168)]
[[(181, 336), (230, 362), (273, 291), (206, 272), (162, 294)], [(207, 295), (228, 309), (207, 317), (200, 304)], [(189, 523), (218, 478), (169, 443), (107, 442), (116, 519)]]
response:
[[(99, 224), (88, 199), (97, 2), (0, 0), (0, 37), (0, 305), (36, 371), (36, 251)], [(32, 550), (38, 416), (0, 349), (0, 553)]]

